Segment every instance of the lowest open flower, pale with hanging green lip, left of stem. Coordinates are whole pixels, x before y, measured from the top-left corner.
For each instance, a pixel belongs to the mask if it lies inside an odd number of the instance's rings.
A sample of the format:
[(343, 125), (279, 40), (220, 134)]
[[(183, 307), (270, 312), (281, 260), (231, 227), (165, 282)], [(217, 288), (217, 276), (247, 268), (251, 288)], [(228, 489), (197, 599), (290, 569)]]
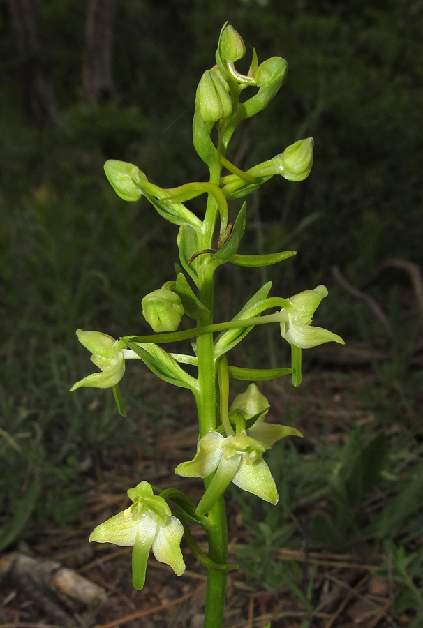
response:
[(179, 519), (172, 516), (163, 498), (154, 495), (148, 482), (140, 482), (135, 488), (130, 488), (128, 497), (133, 505), (97, 525), (89, 540), (124, 547), (133, 545), (132, 576), (135, 589), (144, 586), (150, 549), (159, 562), (170, 565), (175, 574), (181, 576), (185, 571), (180, 548), (184, 528)]

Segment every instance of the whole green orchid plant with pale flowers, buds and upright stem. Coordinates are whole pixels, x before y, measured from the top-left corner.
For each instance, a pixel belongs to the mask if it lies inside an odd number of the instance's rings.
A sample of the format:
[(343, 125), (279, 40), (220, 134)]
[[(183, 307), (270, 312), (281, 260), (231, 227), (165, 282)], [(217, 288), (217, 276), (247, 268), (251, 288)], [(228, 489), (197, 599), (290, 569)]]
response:
[[(303, 349), (332, 341), (343, 343), (332, 331), (311, 324), (316, 308), (327, 296), (323, 285), (287, 298), (269, 297), (272, 285), (266, 283), (247, 297), (246, 303), (239, 304), (239, 312), (232, 320), (214, 322), (214, 272), (221, 264), (237, 264), (248, 271), (248, 267), (276, 264), (295, 255), (295, 251), (238, 253), (248, 218), (246, 202), (239, 199), (258, 190), (275, 174), (288, 181), (302, 181), (313, 161), (311, 137), (295, 142), (246, 172), (225, 157), (237, 126), (265, 109), (282, 86), (287, 71), (287, 63), (281, 57), (271, 57), (259, 65), (254, 50), (248, 74), (241, 74), (235, 63), (244, 54), (241, 36), (225, 24), (218, 40), (216, 65), (206, 70), (198, 84), (193, 144), (209, 169), (208, 181), (159, 188), (136, 165), (116, 160), (105, 163), (105, 174), (117, 195), (127, 201), (146, 197), (159, 216), (177, 226), (179, 264), (176, 276), (142, 299), (142, 313), (154, 334), (128, 334), (114, 339), (101, 331), (77, 330), (80, 342), (91, 352), (91, 361), (100, 370), (71, 389), (112, 388), (119, 413), (125, 417), (119, 382), (126, 360), (140, 359), (165, 382), (191, 390), (198, 408), (198, 449), (193, 460), (181, 461), (175, 472), (203, 479), (205, 493), (200, 502), (194, 504), (175, 488), (159, 491), (136, 478), (135, 488), (128, 491), (132, 504), (98, 525), (90, 541), (133, 546), (133, 584), (142, 589), (150, 550), (175, 574), (184, 573), (180, 548), (184, 534), (195, 558), (208, 570), (206, 628), (222, 625), (227, 572), (237, 567), (227, 562), (225, 488), (233, 482), (258, 499), (276, 505), (278, 491), (265, 462), (266, 451), (285, 436), (301, 436), (295, 428), (265, 421), (269, 404), (253, 383), (229, 407), (230, 380), (254, 382), (290, 374), (292, 383), (298, 386)], [(222, 176), (223, 167), (230, 174)], [(203, 218), (186, 205), (201, 195), (205, 196)], [(228, 223), (228, 201), (232, 200), (235, 207), (238, 204), (233, 224)], [(190, 329), (177, 331), (183, 316), (193, 323)], [(290, 368), (251, 369), (230, 364), (230, 350), (255, 325), (275, 323), (281, 329), (281, 342), (290, 344)], [(193, 347), (188, 353), (165, 350), (165, 343), (188, 339)], [(189, 373), (186, 365), (190, 366)], [(191, 375), (194, 371), (196, 377)], [(192, 523), (200, 524), (207, 532), (208, 554), (195, 544), (190, 532)]]

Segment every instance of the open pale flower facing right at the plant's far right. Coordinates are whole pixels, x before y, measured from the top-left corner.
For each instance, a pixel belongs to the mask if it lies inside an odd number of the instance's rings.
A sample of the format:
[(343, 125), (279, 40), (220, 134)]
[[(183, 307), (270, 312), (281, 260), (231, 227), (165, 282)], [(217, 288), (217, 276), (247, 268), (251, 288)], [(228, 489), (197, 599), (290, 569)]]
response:
[(287, 299), (291, 307), (283, 308), (281, 315), (281, 335), (290, 345), (299, 349), (310, 349), (323, 343), (345, 344), (341, 336), (322, 327), (312, 327), (311, 321), (320, 301), (327, 296), (324, 285), (318, 285), (314, 290), (304, 290)]

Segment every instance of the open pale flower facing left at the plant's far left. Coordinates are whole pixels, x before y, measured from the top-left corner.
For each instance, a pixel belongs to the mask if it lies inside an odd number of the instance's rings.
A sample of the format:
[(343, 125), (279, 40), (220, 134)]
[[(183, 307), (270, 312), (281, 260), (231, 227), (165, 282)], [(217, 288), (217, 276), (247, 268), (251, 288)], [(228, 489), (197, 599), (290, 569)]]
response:
[(73, 384), (71, 391), (82, 386), (89, 388), (112, 388), (125, 373), (125, 359), (122, 351), (125, 346), (122, 341), (117, 341), (103, 334), (101, 331), (83, 331), (77, 329), (76, 335), (82, 345), (91, 351), (91, 361), (94, 362), (101, 373), (92, 373), (83, 380)]

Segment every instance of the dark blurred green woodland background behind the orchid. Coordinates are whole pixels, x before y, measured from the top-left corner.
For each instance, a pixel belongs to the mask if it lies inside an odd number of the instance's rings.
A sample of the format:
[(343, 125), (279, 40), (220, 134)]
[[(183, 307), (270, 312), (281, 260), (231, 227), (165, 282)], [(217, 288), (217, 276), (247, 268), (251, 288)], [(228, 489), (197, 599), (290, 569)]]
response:
[[(274, 177), (249, 200), (240, 252), (298, 255), (265, 274), (225, 269), (218, 320), (262, 279), (284, 297), (325, 283), (324, 326), (373, 368), (378, 401), (367, 389), (362, 403), (411, 439), (421, 432), (422, 0), (3, 1), (0, 486), (4, 511), (19, 514), (2, 518), (9, 541), (33, 511), (72, 521), (83, 491), (54, 487), (138, 435), (135, 419), (117, 428), (107, 394), (67, 393), (89, 369), (75, 329), (147, 331), (142, 296), (172, 278), (177, 255), (175, 227), (114, 195), (103, 163), (136, 163), (163, 187), (207, 177), (191, 119), (226, 20), (246, 42), (241, 70), (253, 46), (259, 62), (279, 55), (289, 67), (228, 157), (246, 170), (311, 135), (315, 162), (306, 181)], [(246, 352), (269, 364), (262, 345)], [(156, 416), (126, 385), (133, 416)]]

